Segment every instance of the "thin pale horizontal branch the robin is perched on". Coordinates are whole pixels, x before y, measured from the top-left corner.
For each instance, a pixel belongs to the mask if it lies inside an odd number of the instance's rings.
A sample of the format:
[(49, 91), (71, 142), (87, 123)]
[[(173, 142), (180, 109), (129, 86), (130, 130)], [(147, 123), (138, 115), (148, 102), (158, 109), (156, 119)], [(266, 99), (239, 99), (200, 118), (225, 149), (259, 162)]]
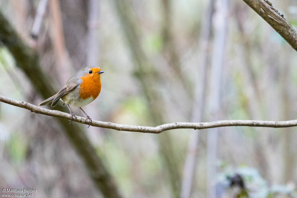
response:
[[(57, 110), (48, 110), (42, 107), (37, 107), (28, 102), (13, 100), (0, 95), (0, 102), (11, 104), (16, 107), (21, 107), (28, 109), (34, 113), (40, 113), (43, 115), (49, 115), (57, 118), (70, 119), (69, 113), (64, 113)], [(86, 118), (76, 116), (73, 121), (89, 125), (89, 120)], [(118, 131), (131, 131), (131, 132), (142, 132), (142, 133), (161, 133), (163, 131), (168, 131), (171, 129), (209, 129), (223, 126), (254, 126), (254, 127), (271, 127), (271, 128), (285, 128), (297, 126), (297, 120), (289, 121), (255, 121), (255, 120), (222, 120), (215, 122), (200, 122), (200, 123), (190, 123), (190, 122), (176, 122), (169, 124), (162, 124), (156, 127), (151, 126), (133, 126), (116, 124), (112, 122), (102, 122), (93, 120), (91, 126), (102, 127), (107, 129), (115, 129)]]

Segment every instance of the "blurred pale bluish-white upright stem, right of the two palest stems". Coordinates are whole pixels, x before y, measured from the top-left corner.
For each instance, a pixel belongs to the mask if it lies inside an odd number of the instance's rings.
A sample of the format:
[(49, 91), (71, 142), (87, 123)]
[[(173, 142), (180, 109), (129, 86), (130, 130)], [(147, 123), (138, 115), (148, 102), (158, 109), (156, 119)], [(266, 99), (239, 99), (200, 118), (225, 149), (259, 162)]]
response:
[[(209, 110), (212, 120), (219, 118), (220, 89), (222, 77), (222, 65), (225, 52), (225, 38), (227, 28), (228, 0), (217, 0), (214, 12), (214, 47), (211, 63)], [(217, 181), (217, 134), (218, 128), (209, 129), (207, 137), (207, 197), (215, 196), (215, 184)]]

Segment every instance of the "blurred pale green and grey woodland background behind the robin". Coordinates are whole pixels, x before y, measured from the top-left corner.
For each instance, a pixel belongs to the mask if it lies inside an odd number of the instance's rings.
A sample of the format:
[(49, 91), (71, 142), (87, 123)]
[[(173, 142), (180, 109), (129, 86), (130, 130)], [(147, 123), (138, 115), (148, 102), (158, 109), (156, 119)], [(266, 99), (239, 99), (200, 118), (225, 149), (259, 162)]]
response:
[[(297, 1), (270, 1), (296, 28)], [(92, 119), (296, 119), (296, 51), (243, 1), (48, 0), (40, 15), (42, 2), (0, 0), (0, 9), (38, 52), (56, 91), (81, 68), (101, 67), (101, 94), (84, 108)], [(43, 18), (33, 39), (36, 15)], [(43, 99), (32, 83), (1, 45), (0, 94), (37, 105)], [(0, 186), (35, 188), (36, 197), (102, 196), (62, 130), (55, 118), (0, 103)], [(211, 197), (221, 186), (233, 196), (228, 178), (236, 173), (251, 197), (296, 197), (295, 128), (86, 133), (123, 197)], [(191, 155), (193, 170), (184, 168)]]

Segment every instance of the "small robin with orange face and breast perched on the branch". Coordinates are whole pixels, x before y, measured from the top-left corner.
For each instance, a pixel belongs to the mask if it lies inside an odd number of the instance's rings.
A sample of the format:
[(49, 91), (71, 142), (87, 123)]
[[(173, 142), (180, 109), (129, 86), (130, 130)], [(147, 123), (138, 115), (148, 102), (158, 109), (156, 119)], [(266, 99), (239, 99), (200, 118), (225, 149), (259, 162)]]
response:
[(79, 107), (80, 110), (83, 111), (83, 113), (87, 116), (86, 120), (89, 119), (90, 121), (90, 126), (92, 123), (92, 119), (89, 117), (89, 115), (86, 114), (86, 112), (84, 112), (84, 110), (81, 107), (89, 104), (90, 102), (93, 102), (100, 94), (100, 74), (102, 73), (103, 72), (99, 67), (83, 68), (75, 75), (70, 77), (67, 83), (60, 89), (58, 93), (46, 99), (39, 105), (42, 106), (51, 102), (52, 104), (50, 106), (54, 107), (58, 104), (59, 100), (61, 99), (62, 102), (64, 102), (64, 104), (67, 104), (69, 108), (71, 115), (70, 124), (75, 115), (72, 113), (69, 104), (71, 104), (74, 107)]

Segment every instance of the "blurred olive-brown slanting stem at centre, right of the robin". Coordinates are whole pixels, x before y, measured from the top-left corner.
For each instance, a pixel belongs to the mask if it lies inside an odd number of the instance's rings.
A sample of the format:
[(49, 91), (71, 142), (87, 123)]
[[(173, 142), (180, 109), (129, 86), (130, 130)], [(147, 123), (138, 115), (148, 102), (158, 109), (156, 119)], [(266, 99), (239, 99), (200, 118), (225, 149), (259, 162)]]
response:
[[(164, 123), (163, 114), (164, 102), (159, 93), (158, 81), (159, 75), (154, 68), (154, 65), (146, 57), (140, 45), (139, 27), (136, 24), (136, 18), (127, 0), (115, 0), (116, 10), (121, 20), (125, 37), (131, 50), (132, 58), (135, 62), (135, 75), (138, 78), (141, 88), (148, 102), (148, 111), (155, 125)], [(171, 137), (168, 133), (159, 134), (160, 153), (168, 168), (173, 197), (179, 197), (181, 188), (181, 176), (178, 167), (178, 161), (173, 152)]]

